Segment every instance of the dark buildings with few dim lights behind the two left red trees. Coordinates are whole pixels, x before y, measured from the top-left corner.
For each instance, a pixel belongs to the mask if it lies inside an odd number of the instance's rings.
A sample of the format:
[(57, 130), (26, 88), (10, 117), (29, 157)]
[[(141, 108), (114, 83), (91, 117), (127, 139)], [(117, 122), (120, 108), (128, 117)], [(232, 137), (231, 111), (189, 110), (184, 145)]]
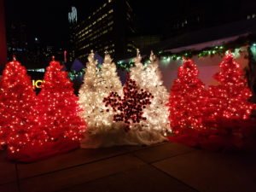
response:
[[(64, 49), (42, 44), (38, 37), (31, 38), (24, 22), (10, 22), (7, 26), (8, 60), (13, 55), (27, 68), (47, 67), (52, 55), (57, 61), (64, 61)], [(30, 38), (28, 38), (30, 37)]]

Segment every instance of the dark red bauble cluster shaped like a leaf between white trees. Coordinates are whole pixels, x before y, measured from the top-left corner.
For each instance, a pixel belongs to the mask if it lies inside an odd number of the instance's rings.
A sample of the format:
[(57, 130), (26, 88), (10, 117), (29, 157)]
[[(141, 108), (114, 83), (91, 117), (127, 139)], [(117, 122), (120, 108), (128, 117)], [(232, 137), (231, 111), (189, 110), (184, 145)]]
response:
[[(154, 96), (146, 90), (139, 89), (134, 80), (128, 77), (123, 88), (124, 97), (116, 92), (111, 92), (105, 97), (103, 102), (106, 107), (110, 106), (116, 112), (113, 116), (114, 121), (124, 121), (125, 124), (139, 123), (140, 120), (146, 120), (143, 117), (143, 108), (149, 105), (150, 99)], [(107, 109), (108, 111), (108, 109)]]

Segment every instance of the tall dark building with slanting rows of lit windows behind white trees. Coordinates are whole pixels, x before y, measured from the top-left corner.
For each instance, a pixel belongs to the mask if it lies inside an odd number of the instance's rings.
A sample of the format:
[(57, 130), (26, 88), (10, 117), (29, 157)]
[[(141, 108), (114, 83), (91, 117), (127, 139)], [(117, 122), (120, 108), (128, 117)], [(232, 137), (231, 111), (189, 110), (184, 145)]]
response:
[(73, 47), (71, 56), (83, 61), (91, 49), (99, 55), (108, 50), (115, 59), (136, 53), (136, 47), (129, 38), (135, 29), (133, 12), (127, 0), (107, 0), (84, 20), (76, 22), (77, 17), (74, 15), (69, 19), (70, 43)]

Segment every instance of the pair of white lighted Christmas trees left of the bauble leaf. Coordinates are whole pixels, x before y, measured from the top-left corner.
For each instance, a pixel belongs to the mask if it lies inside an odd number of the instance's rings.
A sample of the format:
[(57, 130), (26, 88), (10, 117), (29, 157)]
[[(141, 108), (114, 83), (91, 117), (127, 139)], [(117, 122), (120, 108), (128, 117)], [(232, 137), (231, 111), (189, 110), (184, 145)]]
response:
[(111, 91), (120, 93), (122, 85), (116, 72), (115, 64), (106, 53), (100, 71), (94, 59), (94, 53), (88, 56), (84, 75), (84, 84), (79, 90), (79, 104), (84, 111), (81, 113), (88, 124), (85, 134), (97, 134), (113, 129), (113, 112), (105, 107), (103, 99)]

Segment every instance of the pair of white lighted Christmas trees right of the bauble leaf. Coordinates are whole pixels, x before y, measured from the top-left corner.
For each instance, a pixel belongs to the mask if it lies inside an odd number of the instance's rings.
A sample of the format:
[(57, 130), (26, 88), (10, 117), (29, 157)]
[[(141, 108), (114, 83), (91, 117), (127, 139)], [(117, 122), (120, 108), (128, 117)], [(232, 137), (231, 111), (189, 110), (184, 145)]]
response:
[(150, 63), (144, 67), (141, 60), (142, 57), (137, 49), (137, 58), (135, 59), (135, 67), (131, 68), (131, 79), (137, 82), (137, 85), (149, 91), (154, 97), (151, 104), (143, 109), (143, 116), (146, 120), (140, 122), (142, 129), (149, 131), (159, 131), (161, 135), (166, 135), (171, 131), (168, 108), (169, 94), (161, 80), (161, 73), (155, 55), (151, 52)]

